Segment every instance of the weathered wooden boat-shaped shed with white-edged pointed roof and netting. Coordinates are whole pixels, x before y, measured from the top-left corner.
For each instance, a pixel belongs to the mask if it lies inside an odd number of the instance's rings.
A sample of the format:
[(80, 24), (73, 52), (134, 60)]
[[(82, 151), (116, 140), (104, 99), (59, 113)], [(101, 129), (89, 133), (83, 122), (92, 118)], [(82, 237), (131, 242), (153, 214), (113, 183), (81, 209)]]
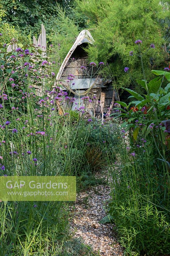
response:
[(99, 74), (102, 64), (99, 69), (89, 64), (86, 47), (93, 43), (90, 32), (82, 30), (60, 67), (56, 83), (76, 98), (72, 109), (85, 106), (91, 116), (100, 118), (118, 100), (118, 93), (112, 89), (111, 77), (105, 79)]

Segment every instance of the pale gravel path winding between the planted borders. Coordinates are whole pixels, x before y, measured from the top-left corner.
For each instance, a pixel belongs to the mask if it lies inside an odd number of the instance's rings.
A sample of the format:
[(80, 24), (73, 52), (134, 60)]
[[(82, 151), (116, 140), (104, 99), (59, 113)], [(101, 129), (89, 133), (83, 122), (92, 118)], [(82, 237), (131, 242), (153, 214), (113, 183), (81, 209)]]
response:
[(77, 195), (77, 200), (71, 207), (71, 232), (74, 238), (81, 237), (84, 244), (91, 245), (98, 255), (122, 256), (123, 250), (112, 230), (113, 224), (99, 223), (106, 216), (104, 207), (109, 199), (110, 187), (105, 184)]

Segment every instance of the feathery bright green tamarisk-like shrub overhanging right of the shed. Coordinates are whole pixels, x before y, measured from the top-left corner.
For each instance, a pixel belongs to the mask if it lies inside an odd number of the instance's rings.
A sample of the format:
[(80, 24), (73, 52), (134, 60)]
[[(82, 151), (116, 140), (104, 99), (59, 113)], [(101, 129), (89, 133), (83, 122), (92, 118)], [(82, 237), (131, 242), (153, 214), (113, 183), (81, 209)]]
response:
[[(144, 66), (147, 79), (151, 78), (151, 69), (157, 69), (165, 60), (163, 44), (165, 42), (164, 28), (167, 24), (160, 23), (169, 15), (168, 4), (164, 6), (159, 0), (91, 0), (77, 2), (77, 11), (88, 19), (90, 32), (95, 44), (88, 49), (89, 59), (93, 61), (108, 61), (118, 87), (131, 83), (124, 74), (124, 67), (131, 67), (133, 80), (142, 77), (138, 61), (138, 47), (134, 42), (143, 41), (142, 51), (145, 52)], [(150, 44), (156, 49), (150, 49)], [(129, 52), (134, 51), (133, 57)]]

